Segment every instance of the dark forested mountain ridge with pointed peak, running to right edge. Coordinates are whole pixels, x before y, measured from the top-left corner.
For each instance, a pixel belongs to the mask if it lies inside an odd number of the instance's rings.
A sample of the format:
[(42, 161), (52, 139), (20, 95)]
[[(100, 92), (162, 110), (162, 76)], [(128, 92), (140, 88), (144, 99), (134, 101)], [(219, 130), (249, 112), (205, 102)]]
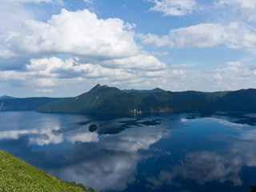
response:
[(118, 90), (94, 86), (75, 98), (50, 102), (38, 109), (43, 113), (147, 114), (215, 110), (256, 110), (256, 90), (220, 92)]

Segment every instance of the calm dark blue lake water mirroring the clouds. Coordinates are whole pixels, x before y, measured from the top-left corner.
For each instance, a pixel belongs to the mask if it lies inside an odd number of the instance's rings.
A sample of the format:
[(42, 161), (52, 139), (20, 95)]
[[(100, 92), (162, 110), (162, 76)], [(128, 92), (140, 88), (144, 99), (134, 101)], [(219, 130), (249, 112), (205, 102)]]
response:
[[(91, 133), (90, 124), (98, 125)], [(104, 117), (0, 112), (0, 149), (97, 190), (250, 191), (256, 114)]]

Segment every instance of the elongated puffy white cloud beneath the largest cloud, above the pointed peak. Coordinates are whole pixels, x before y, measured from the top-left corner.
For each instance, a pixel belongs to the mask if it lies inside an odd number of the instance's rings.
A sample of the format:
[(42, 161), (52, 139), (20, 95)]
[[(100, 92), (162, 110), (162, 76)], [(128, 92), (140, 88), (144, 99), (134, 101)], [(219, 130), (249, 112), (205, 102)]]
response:
[(31, 74), (45, 78), (132, 78), (131, 74), (122, 69), (110, 69), (97, 64), (79, 63), (78, 58), (42, 58), (31, 59), (27, 70)]

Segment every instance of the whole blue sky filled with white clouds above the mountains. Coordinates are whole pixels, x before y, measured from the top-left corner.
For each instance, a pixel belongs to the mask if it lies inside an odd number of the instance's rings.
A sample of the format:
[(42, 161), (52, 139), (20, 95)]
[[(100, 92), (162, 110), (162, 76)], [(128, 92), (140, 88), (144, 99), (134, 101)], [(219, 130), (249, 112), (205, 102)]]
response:
[(256, 88), (256, 0), (1, 0), (0, 95)]

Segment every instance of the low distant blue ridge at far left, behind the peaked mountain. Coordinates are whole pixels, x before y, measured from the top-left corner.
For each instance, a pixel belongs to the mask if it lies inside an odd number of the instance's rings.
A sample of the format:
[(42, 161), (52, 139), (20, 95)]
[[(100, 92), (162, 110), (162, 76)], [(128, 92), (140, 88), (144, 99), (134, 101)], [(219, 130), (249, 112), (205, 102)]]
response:
[(0, 110), (37, 110), (49, 102), (60, 98), (15, 98), (0, 99)]

